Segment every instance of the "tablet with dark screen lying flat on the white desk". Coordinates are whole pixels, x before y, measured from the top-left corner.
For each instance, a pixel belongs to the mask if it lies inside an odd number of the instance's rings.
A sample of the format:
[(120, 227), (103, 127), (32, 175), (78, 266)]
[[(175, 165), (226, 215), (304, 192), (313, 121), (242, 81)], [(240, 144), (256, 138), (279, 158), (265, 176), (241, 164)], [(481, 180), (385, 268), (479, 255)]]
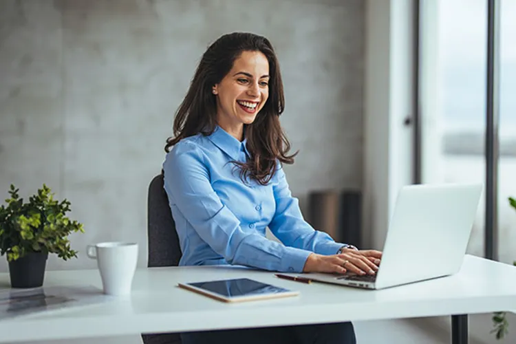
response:
[(272, 286), (246, 278), (178, 283), (178, 286), (225, 302), (255, 301), (299, 295), (299, 291), (296, 290)]

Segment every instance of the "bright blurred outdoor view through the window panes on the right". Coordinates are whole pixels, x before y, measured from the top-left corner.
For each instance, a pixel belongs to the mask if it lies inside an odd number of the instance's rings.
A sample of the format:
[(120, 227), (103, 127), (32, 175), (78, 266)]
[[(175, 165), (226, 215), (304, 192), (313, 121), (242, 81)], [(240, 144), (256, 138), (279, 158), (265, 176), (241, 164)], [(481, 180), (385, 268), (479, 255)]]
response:
[[(423, 182), (484, 182), (486, 178), (487, 6), (483, 0), (426, 1), (427, 40), (421, 78)], [(516, 216), (508, 197), (516, 182), (516, 1), (499, 3), (499, 260), (516, 260)], [(433, 7), (433, 9), (432, 9)], [(435, 11), (435, 12), (433, 12)], [(433, 74), (433, 75), (430, 75)], [(424, 76), (425, 74), (423, 74)], [(512, 96), (511, 96), (512, 95)], [(484, 190), (485, 197), (485, 190)], [(483, 198), (484, 198), (483, 197)], [(484, 201), (484, 200), (483, 200)], [(469, 251), (484, 254), (485, 204), (478, 209)]]

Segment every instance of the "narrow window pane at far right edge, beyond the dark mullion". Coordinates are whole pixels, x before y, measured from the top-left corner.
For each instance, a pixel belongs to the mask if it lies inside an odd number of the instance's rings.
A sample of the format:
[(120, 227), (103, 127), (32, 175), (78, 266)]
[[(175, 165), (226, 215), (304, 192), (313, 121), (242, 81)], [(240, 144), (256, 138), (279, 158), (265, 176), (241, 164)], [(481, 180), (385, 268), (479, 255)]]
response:
[(500, 89), (498, 164), (498, 255), (516, 260), (516, 209), (508, 197), (516, 198), (516, 1), (502, 0), (500, 8)]

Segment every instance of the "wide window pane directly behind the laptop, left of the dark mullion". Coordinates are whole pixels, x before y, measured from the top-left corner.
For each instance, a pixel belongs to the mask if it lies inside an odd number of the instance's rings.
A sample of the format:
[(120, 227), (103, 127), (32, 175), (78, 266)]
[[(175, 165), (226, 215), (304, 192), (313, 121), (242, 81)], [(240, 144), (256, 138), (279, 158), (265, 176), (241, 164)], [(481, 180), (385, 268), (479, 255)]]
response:
[[(422, 28), (422, 182), (485, 180), (486, 0), (426, 0)], [(484, 195), (468, 252), (484, 255)]]

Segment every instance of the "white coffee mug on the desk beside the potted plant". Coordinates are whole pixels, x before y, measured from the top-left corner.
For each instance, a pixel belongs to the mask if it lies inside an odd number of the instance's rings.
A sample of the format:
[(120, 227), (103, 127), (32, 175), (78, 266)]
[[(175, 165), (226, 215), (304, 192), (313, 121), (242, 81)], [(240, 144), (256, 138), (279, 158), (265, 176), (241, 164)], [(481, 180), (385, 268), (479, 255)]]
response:
[(123, 296), (131, 294), (138, 244), (127, 242), (102, 242), (88, 245), (86, 254), (96, 259), (105, 294)]

